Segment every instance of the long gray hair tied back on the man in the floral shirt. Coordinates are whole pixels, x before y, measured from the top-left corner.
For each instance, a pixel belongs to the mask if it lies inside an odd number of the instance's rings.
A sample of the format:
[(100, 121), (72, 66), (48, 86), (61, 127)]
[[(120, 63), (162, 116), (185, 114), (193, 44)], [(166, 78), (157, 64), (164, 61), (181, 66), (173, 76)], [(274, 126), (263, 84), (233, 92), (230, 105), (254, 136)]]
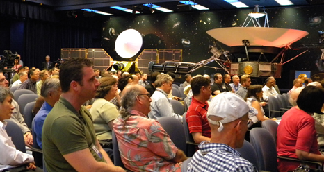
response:
[[(131, 89), (128, 89), (131, 87)], [(131, 115), (131, 109), (136, 103), (136, 96), (140, 94), (140, 85), (127, 85), (122, 92), (122, 98), (120, 100), (120, 115), (122, 119), (127, 120), (127, 118)]]

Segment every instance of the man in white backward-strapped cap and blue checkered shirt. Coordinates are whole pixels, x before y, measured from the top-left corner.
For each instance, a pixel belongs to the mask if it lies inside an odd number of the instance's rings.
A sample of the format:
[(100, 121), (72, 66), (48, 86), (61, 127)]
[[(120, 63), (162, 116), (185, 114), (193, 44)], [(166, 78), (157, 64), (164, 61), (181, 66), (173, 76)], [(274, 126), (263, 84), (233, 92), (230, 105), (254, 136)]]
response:
[(223, 92), (214, 97), (207, 112), (211, 141), (202, 141), (198, 146), (200, 150), (193, 155), (188, 171), (257, 171), (235, 150), (243, 146), (245, 132), (252, 124), (249, 111), (237, 94)]

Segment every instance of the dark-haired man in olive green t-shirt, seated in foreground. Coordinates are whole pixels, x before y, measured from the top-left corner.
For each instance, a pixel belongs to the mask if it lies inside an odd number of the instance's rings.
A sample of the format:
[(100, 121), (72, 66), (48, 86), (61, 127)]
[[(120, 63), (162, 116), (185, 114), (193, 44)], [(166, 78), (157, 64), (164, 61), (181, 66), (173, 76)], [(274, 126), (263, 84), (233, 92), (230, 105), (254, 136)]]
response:
[(92, 63), (72, 58), (60, 66), (62, 95), (44, 121), (42, 148), (47, 171), (124, 171), (100, 146), (83, 103), (99, 85)]

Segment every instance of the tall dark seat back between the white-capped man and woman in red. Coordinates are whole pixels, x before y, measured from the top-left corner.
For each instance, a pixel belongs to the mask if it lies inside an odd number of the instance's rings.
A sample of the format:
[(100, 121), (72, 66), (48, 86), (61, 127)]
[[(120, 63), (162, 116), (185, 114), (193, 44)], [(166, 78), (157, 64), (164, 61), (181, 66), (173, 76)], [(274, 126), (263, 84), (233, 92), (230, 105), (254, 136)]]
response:
[(273, 135), (264, 128), (252, 128), (250, 142), (257, 153), (259, 170), (277, 171), (277, 150)]

